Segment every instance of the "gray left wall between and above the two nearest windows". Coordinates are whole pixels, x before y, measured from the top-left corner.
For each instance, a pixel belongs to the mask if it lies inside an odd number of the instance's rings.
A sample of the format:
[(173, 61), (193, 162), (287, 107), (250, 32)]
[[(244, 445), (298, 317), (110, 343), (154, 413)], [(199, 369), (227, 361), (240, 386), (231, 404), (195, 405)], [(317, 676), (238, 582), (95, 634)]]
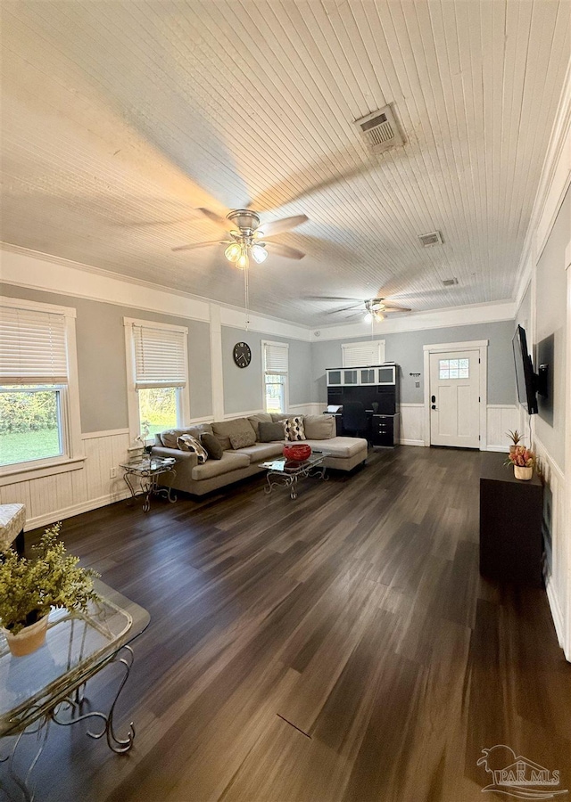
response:
[(54, 292), (28, 290), (11, 284), (1, 284), (0, 292), (10, 298), (28, 299), (76, 309), (79, 407), (83, 433), (128, 428), (123, 317), (136, 317), (141, 320), (188, 327), (190, 413), (193, 418), (212, 413), (211, 343), (208, 323), (58, 295)]

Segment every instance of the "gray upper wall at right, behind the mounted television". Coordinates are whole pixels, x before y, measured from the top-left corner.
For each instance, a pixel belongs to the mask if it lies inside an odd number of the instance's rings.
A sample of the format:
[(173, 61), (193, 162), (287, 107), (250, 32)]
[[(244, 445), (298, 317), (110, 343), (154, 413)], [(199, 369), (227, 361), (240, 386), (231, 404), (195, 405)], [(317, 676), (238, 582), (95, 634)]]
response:
[(539, 362), (550, 364), (550, 397), (539, 397), (535, 432), (552, 459), (565, 470), (565, 367), (567, 358), (567, 275), (565, 250), (571, 241), (571, 190), (565, 201), (541, 258), (535, 281), (534, 368)]

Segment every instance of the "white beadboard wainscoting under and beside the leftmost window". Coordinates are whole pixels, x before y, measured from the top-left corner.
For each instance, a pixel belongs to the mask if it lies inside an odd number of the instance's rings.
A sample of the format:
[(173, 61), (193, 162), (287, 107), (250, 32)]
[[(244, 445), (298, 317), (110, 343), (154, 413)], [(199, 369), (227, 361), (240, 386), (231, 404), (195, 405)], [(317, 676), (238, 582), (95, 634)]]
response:
[[(46, 526), (78, 512), (95, 510), (127, 498), (119, 465), (128, 458), (128, 431), (97, 432), (83, 437), (86, 461), (81, 470), (14, 481), (0, 487), (0, 503), (26, 505), (26, 529)], [(111, 478), (115, 469), (117, 476)]]

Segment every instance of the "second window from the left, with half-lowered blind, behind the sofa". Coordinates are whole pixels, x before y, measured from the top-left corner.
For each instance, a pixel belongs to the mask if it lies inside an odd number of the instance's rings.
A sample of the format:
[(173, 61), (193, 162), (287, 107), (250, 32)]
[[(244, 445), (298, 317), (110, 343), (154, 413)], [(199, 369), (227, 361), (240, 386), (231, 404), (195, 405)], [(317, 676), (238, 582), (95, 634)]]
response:
[(188, 415), (188, 330), (125, 318), (128, 353), (129, 429), (153, 440), (181, 427)]

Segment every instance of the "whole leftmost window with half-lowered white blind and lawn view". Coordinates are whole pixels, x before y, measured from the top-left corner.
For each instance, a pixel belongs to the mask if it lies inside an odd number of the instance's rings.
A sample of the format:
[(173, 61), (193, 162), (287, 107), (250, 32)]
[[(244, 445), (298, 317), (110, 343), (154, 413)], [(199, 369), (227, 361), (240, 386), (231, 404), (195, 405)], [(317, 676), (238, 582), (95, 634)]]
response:
[(75, 309), (0, 299), (2, 471), (78, 456), (78, 407)]

